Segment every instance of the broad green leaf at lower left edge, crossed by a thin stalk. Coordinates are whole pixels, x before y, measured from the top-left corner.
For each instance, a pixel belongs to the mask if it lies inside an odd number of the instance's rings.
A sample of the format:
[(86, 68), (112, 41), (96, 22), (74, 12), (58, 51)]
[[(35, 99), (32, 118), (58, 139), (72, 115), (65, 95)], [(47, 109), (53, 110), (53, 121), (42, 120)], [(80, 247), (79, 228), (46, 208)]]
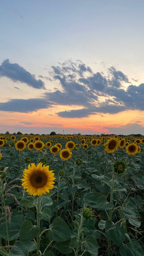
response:
[[(9, 240), (15, 240), (19, 237), (19, 230), (22, 226), (22, 223), (25, 221), (25, 217), (23, 215), (13, 216), (11, 218), (11, 222), (8, 223), (8, 231), (9, 231)], [(0, 226), (0, 236), (7, 240), (6, 226), (5, 222)]]

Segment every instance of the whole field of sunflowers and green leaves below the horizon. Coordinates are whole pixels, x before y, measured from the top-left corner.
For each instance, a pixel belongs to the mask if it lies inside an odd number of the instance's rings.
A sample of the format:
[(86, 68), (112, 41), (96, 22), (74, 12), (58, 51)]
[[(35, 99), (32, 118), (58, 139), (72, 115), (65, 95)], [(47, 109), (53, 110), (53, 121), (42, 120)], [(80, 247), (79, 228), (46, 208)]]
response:
[(143, 256), (144, 138), (0, 134), (0, 255)]

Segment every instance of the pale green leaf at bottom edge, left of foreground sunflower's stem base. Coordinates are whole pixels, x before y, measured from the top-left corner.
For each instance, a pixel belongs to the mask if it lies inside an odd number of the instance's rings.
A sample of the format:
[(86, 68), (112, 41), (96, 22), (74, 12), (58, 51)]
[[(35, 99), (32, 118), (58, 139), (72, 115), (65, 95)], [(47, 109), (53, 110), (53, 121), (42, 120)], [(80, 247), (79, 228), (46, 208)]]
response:
[(28, 256), (29, 252), (36, 250), (34, 242), (16, 241), (14, 246), (16, 247), (10, 250), (11, 256)]

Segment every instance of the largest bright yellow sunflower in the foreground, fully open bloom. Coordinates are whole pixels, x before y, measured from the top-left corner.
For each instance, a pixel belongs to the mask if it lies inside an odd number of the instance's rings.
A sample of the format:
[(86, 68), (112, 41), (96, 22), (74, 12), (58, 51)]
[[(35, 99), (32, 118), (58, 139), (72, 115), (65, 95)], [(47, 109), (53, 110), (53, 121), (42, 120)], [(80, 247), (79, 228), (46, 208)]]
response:
[(53, 171), (49, 171), (49, 166), (42, 166), (39, 163), (28, 165), (28, 170), (25, 169), (23, 172), (22, 186), (26, 189), (29, 195), (42, 195), (49, 193), (49, 189), (53, 189), (55, 177)]

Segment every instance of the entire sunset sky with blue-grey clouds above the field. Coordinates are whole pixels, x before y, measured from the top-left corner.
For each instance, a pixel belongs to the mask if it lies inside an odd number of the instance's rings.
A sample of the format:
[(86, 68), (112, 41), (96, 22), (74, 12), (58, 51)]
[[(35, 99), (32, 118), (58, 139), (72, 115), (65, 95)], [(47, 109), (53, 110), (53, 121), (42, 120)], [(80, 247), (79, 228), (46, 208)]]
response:
[(0, 133), (144, 135), (143, 0), (0, 1)]

